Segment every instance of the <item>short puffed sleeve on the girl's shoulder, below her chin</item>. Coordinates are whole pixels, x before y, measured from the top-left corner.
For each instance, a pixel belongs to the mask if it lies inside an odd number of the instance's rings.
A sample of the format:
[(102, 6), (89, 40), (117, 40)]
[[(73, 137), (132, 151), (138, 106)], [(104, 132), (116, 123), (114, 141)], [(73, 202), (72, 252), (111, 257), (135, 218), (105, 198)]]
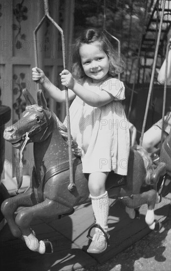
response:
[(105, 90), (110, 93), (116, 100), (124, 100), (125, 99), (125, 86), (124, 83), (116, 78), (111, 78), (104, 81), (101, 86), (101, 90)]

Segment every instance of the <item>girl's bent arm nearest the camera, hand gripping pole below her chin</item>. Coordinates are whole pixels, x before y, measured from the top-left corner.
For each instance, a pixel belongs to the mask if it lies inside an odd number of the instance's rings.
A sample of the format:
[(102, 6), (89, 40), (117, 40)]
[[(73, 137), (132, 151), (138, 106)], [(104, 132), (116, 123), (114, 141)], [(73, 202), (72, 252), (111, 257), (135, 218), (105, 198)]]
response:
[(62, 85), (73, 90), (81, 100), (91, 106), (100, 107), (114, 100), (113, 96), (106, 91), (102, 90), (100, 94), (97, 94), (84, 88), (73, 79), (72, 74), (67, 69), (63, 70), (60, 75)]

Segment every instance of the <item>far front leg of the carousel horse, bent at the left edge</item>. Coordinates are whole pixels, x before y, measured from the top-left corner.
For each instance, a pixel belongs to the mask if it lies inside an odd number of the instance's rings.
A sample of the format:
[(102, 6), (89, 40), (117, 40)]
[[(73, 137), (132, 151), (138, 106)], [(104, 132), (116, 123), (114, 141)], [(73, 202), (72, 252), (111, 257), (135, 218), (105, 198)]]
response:
[(11, 233), (14, 237), (20, 238), (22, 237), (21, 230), (15, 223), (15, 211), (20, 206), (32, 206), (32, 199), (31, 199), (32, 191), (29, 190), (26, 193), (19, 194), (15, 197), (6, 199), (1, 204), (1, 212), (3, 216), (5, 217), (9, 228), (11, 230)]

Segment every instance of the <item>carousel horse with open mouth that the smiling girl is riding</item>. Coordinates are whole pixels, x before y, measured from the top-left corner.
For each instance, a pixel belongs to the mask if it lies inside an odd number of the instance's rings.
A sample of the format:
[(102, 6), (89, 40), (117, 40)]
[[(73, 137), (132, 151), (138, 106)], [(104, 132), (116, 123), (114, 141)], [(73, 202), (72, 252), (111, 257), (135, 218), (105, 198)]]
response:
[[(34, 168), (30, 189), (5, 200), (1, 204), (1, 211), (14, 237), (22, 238), (32, 251), (51, 253), (51, 242), (47, 239), (38, 241), (30, 225), (34, 218), (71, 214), (74, 206), (89, 203), (88, 174), (82, 172), (81, 159), (74, 154), (78, 146), (73, 141), (75, 189), (68, 190), (67, 128), (47, 108), (41, 90), (37, 92), (37, 103), (28, 90), (23, 90), (23, 95), (27, 106), (22, 118), (4, 131), (4, 139), (20, 151), (16, 171), (18, 189), (22, 183), (22, 151), (30, 142), (34, 142)], [(136, 216), (135, 208), (146, 203), (145, 221), (150, 229), (158, 230), (159, 222), (154, 219), (157, 177), (154, 178), (153, 173), (152, 162), (143, 148), (131, 148), (128, 175), (121, 176), (111, 171), (106, 180), (106, 190), (109, 198), (118, 198), (125, 204), (132, 219)]]

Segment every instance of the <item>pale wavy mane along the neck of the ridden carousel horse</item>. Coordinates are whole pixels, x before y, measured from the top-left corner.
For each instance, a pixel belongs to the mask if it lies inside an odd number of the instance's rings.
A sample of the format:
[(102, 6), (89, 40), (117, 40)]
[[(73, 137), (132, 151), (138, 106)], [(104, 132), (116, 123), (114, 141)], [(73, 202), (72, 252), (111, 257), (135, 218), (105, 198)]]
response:
[[(68, 141), (67, 127), (59, 120), (57, 116), (56, 116), (56, 120), (58, 123), (58, 130), (59, 130), (60, 135), (65, 141)], [(71, 150), (73, 154), (75, 154), (76, 156), (81, 156), (81, 149), (78, 147), (77, 142), (72, 138), (72, 135), (71, 135)]]

